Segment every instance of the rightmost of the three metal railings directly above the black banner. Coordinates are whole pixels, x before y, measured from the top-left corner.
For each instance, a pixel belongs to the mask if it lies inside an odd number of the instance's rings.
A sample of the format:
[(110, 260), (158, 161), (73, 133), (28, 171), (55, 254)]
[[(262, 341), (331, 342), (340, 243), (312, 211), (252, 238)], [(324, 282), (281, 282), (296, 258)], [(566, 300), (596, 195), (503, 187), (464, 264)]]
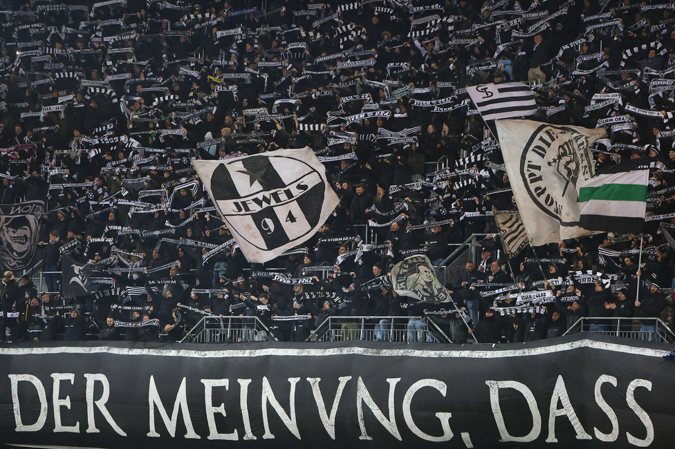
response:
[(579, 318), (564, 335), (577, 332), (595, 332), (657, 343), (675, 343), (675, 334), (660, 318), (586, 316)]

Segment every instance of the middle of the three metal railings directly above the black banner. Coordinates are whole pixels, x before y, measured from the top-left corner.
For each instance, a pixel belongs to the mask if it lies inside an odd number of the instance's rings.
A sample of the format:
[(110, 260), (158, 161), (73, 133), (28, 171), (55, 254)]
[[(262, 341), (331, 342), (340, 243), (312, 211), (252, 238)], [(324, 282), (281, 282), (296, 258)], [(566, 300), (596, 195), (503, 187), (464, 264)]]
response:
[(412, 316), (329, 316), (307, 341), (421, 341), (452, 343), (431, 320)]

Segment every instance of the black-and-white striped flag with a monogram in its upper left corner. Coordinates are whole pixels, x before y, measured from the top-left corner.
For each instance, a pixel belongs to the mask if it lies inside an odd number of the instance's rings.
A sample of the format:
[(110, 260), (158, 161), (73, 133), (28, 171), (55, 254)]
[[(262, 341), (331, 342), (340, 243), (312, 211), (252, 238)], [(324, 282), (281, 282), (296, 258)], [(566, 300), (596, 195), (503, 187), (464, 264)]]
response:
[(508, 119), (537, 112), (535, 95), (525, 84), (479, 84), (466, 88), (483, 120)]

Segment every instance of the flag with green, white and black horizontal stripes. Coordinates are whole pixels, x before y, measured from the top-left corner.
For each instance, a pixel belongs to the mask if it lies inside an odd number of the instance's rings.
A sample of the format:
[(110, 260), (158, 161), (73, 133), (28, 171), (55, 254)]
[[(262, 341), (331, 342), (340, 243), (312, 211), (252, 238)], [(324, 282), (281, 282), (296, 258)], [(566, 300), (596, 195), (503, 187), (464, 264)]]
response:
[(639, 233), (645, 222), (649, 164), (630, 160), (586, 180), (579, 189), (579, 225), (591, 231)]

